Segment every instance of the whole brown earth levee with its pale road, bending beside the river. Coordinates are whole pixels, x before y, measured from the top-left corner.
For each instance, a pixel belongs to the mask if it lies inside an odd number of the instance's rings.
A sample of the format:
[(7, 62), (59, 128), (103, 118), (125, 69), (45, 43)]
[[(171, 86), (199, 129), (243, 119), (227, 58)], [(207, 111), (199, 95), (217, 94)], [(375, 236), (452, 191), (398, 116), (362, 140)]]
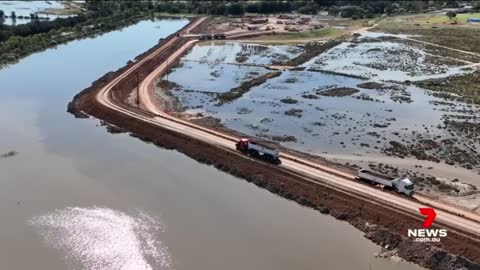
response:
[[(206, 19), (196, 19), (180, 33), (198, 32)], [(436, 228), (447, 228), (440, 243), (416, 243), (407, 230), (420, 228), (424, 204), (353, 181), (351, 174), (282, 154), (281, 166), (244, 156), (234, 149), (236, 138), (176, 119), (159, 109), (151, 87), (182, 53), (195, 44), (193, 38), (175, 34), (137, 57), (135, 62), (106, 74), (69, 104), (77, 116), (92, 115), (124, 128), (142, 140), (176, 149), (200, 162), (214, 165), (287, 199), (345, 220), (366, 233), (366, 237), (388, 249), (396, 249), (406, 260), (434, 269), (475, 267), (480, 262), (480, 224), (469, 218), (437, 210)], [(138, 74), (138, 75), (137, 75)], [(126, 102), (136, 89), (140, 108)], [(445, 252), (447, 251), (447, 252)], [(468, 258), (468, 259), (466, 259)], [(470, 260), (471, 261), (470, 261)]]

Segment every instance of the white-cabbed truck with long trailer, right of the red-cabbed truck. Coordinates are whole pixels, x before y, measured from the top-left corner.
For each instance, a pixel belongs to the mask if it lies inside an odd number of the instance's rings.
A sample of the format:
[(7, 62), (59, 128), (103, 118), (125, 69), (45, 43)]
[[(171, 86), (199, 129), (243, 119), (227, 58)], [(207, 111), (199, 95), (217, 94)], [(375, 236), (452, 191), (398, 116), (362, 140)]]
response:
[(384, 188), (392, 189), (409, 197), (414, 194), (414, 185), (407, 176), (392, 178), (374, 171), (361, 169), (358, 171), (358, 176), (356, 178), (372, 184), (382, 185)]

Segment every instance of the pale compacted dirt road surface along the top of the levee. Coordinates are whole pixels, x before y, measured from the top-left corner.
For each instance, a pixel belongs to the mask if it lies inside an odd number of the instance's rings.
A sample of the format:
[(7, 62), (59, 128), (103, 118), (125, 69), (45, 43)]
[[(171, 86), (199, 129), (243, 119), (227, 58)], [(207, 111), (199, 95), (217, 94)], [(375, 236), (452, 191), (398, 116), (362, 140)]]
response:
[[(186, 31), (190, 31), (193, 29), (193, 27), (197, 26), (205, 19), (206, 18), (198, 20), (196, 23), (189, 26)], [(157, 116), (148, 117), (143, 114), (139, 114), (135, 111), (128, 110), (119, 104), (115, 104), (114, 101), (111, 100), (111, 95), (109, 92), (114, 85), (134, 72), (135, 69), (145, 61), (148, 61), (152, 57), (166, 50), (178, 38), (179, 37), (173, 37), (170, 41), (158, 48), (151, 55), (140, 60), (120, 76), (105, 85), (98, 92), (96, 96), (97, 101), (103, 106), (115, 110), (118, 113), (135, 117), (140, 121), (144, 121), (162, 128), (167, 128), (175, 132), (180, 132), (223, 149), (236, 151), (234, 142), (237, 140), (237, 138), (172, 117), (155, 106), (154, 99), (156, 97), (154, 96), (153, 91), (151, 91), (153, 82), (159, 74), (168, 68), (167, 63), (173, 63), (186, 50), (193, 47), (198, 40), (191, 40), (187, 44), (181, 46), (175, 53), (170, 55), (166, 63), (158, 66), (142, 81), (139, 88), (142, 107), (147, 111), (156, 114)], [(364, 200), (368, 200), (369, 202), (376, 201), (382, 207), (391, 208), (394, 211), (409, 214), (410, 216), (417, 218), (419, 220), (419, 224), (423, 221), (423, 217), (418, 214), (418, 208), (424, 207), (425, 204), (432, 204), (432, 206), (436, 207), (436, 224), (444, 224), (445, 226), (449, 227), (450, 230), (457, 231), (459, 234), (462, 234), (462, 232), (468, 232), (480, 237), (480, 216), (473, 212), (453, 208), (442, 203), (433, 202), (420, 196), (416, 196), (418, 201), (410, 200), (402, 196), (366, 186), (359, 182), (351, 181), (354, 178), (353, 175), (334, 170), (323, 165), (315, 164), (311, 161), (302, 159), (301, 157), (283, 153), (281, 156), (283, 158), (283, 162), (280, 166), (278, 166), (279, 169), (295, 172), (298, 175), (303, 176), (306, 181), (314, 182), (320, 185), (328, 185), (329, 187), (335, 188), (344, 193), (348, 193), (349, 195), (362, 197)], [(479, 238), (476, 240), (478, 241)]]

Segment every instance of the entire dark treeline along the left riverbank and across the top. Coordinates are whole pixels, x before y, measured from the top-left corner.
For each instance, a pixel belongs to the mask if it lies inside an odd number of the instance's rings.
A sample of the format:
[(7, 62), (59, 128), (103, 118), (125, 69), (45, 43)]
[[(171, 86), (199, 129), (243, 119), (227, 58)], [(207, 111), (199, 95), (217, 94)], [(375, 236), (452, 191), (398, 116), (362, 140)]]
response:
[[(165, 0), (86, 0), (81, 14), (51, 21), (41, 20), (31, 14), (26, 24), (5, 25), (6, 17), (0, 10), (0, 65), (14, 62), (32, 52), (81, 38), (92, 33), (101, 33), (134, 23), (155, 13), (243, 15), (245, 13), (317, 14), (327, 11), (331, 15), (346, 18), (370, 18), (378, 14), (420, 12), (429, 8), (459, 7), (460, 1), (165, 1)], [(480, 9), (480, 5), (472, 2)], [(15, 18), (14, 12), (10, 14)]]

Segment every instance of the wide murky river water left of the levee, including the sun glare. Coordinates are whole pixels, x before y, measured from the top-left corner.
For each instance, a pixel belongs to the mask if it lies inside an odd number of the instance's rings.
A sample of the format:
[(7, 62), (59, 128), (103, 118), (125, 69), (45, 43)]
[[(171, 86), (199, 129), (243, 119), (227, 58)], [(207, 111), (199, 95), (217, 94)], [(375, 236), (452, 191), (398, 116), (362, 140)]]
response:
[[(80, 90), (187, 24), (142, 21), (0, 70), (0, 269), (419, 269), (321, 215), (95, 119)], [(345, 259), (348, 258), (348, 259)]]

